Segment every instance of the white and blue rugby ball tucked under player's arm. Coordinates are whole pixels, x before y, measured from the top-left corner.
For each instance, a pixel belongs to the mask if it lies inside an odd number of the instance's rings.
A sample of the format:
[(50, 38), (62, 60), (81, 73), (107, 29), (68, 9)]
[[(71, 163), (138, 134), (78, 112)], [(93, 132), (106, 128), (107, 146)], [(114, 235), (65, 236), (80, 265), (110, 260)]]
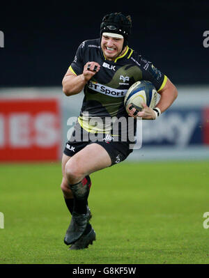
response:
[(127, 113), (130, 113), (127, 107), (133, 105), (137, 111), (141, 111), (144, 107), (141, 105), (144, 102), (148, 107), (154, 108), (157, 104), (157, 91), (155, 86), (149, 81), (138, 81), (127, 90), (124, 99), (124, 105)]

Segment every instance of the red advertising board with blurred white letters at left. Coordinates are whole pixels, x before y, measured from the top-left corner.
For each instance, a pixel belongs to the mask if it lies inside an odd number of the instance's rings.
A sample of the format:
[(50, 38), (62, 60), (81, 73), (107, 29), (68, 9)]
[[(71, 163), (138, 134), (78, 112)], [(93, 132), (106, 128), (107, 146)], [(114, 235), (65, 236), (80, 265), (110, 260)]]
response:
[(0, 99), (0, 161), (59, 160), (59, 100)]

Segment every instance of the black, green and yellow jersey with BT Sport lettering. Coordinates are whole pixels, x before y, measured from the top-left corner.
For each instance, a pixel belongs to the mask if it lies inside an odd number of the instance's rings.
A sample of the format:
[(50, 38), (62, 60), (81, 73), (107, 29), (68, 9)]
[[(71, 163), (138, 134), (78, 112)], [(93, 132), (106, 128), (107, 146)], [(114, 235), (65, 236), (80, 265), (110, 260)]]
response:
[(84, 87), (84, 100), (79, 124), (88, 132), (105, 132), (111, 134), (107, 125), (93, 125), (94, 118), (127, 118), (124, 97), (128, 88), (139, 80), (148, 80), (160, 91), (167, 82), (167, 77), (157, 70), (153, 63), (144, 59), (133, 49), (127, 47), (122, 56), (115, 61), (108, 61), (100, 47), (100, 38), (86, 40), (77, 49), (70, 70), (81, 75), (88, 61), (100, 64), (100, 70)]

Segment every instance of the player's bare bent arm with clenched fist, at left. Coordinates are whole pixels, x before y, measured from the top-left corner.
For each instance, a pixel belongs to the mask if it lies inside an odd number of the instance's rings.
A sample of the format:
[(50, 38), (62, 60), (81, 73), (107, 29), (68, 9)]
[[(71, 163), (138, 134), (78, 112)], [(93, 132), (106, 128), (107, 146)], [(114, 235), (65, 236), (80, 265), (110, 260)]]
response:
[[(89, 67), (88, 65), (91, 66)], [(80, 93), (88, 80), (90, 80), (99, 70), (100, 65), (95, 62), (86, 63), (81, 75), (76, 75), (76, 73), (73, 72), (72, 67), (70, 67), (63, 77), (63, 93), (67, 96)]]

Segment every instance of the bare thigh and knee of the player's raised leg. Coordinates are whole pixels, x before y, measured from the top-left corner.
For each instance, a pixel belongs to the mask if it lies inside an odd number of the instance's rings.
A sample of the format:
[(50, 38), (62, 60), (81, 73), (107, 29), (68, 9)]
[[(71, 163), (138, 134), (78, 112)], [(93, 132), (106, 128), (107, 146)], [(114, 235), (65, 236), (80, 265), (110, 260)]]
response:
[(65, 177), (71, 184), (78, 183), (84, 176), (111, 166), (111, 158), (99, 144), (90, 144), (73, 155), (65, 163)]

